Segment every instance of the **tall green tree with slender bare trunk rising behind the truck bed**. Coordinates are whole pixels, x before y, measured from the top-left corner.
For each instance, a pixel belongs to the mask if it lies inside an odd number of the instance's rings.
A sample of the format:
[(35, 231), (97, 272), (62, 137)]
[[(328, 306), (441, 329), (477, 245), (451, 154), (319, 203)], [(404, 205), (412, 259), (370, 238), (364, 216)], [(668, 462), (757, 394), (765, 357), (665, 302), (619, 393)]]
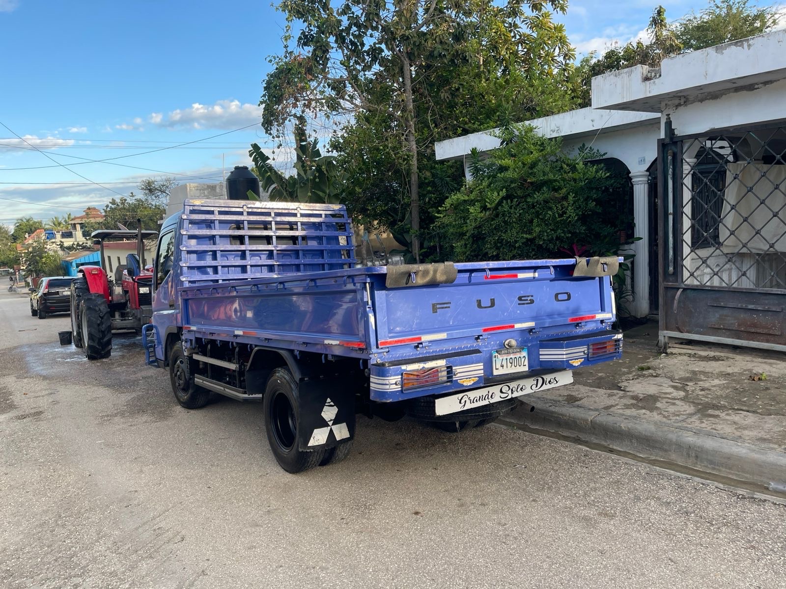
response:
[[(359, 134), (383, 141), (384, 166), (394, 163), (403, 174), (395, 178), (394, 189), (402, 185), (406, 190), (403, 223), (411, 226), (418, 256), (424, 145), (419, 142), (443, 124), (437, 118), (448, 112), (451, 99), (459, 100), (457, 94), (469, 96), (468, 101), (476, 97), (481, 86), (468, 71), (496, 79), (505, 71), (548, 71), (559, 77), (568, 69), (574, 53), (564, 27), (548, 10), (564, 12), (566, 6), (565, 0), (512, 0), (501, 6), (492, 0), (343, 0), (336, 5), (284, 0), (279, 7), (299, 33), (296, 49), (290, 49), (288, 30), (284, 52), (273, 60), (274, 71), (264, 82), (263, 126), (281, 137), (293, 116), (320, 114), (344, 122), (350, 133), (358, 124), (365, 126)], [(428, 88), (428, 82), (449, 75), (440, 68), (465, 68), (465, 75)]]

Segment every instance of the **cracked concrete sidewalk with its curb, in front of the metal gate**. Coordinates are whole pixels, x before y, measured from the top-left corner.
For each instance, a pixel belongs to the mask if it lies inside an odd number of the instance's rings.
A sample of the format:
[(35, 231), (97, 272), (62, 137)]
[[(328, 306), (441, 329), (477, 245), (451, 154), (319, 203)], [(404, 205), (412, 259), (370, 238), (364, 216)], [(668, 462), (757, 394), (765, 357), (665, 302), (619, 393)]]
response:
[(623, 360), (575, 371), (498, 423), (570, 437), (753, 490), (786, 494), (786, 357), (697, 342), (657, 353), (625, 333)]

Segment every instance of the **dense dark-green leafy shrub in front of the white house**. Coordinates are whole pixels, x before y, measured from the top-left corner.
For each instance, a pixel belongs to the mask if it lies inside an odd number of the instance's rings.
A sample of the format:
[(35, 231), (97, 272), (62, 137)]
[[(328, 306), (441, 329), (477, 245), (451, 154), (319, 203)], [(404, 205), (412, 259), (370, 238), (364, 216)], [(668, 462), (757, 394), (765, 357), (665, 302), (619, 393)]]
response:
[(627, 178), (586, 160), (602, 154), (562, 151), (561, 141), (521, 126), (503, 131), (503, 146), (481, 160), (472, 154), (472, 181), (439, 210), (446, 258), (456, 262), (565, 258), (615, 253), (619, 187)]

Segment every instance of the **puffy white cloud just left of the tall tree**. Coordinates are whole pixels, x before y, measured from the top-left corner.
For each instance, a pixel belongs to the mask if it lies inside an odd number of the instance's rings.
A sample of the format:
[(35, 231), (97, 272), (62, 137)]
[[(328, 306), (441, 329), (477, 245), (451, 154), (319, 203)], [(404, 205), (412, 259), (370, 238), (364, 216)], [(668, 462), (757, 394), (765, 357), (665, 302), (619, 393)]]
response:
[(234, 129), (259, 123), (261, 117), (262, 107), (256, 104), (216, 101), (215, 104), (195, 102), (189, 108), (178, 108), (170, 112), (166, 117), (161, 112), (153, 112), (148, 120), (154, 125), (168, 128)]

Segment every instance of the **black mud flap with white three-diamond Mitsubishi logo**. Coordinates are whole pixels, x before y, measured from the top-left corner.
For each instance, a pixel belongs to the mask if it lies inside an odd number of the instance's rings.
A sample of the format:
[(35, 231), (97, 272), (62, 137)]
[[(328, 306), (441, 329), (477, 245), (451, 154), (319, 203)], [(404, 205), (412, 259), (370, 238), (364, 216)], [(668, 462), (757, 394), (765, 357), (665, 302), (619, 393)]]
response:
[(332, 448), (354, 437), (354, 389), (346, 379), (300, 381), (298, 406), (300, 450)]

